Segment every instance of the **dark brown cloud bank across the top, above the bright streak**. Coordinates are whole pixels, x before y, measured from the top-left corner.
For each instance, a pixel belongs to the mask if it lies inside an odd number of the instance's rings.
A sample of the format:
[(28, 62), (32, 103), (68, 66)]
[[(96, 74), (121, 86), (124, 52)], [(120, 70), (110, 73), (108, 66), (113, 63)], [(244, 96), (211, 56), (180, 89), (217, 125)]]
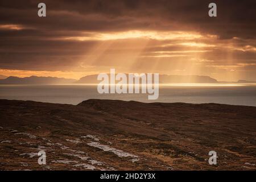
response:
[[(44, 1), (47, 18), (38, 18), (39, 1), (1, 1), (0, 23), (40, 30), (123, 31), (198, 30), (220, 38), (255, 38), (255, 1), (214, 1), (217, 18), (209, 18), (212, 1)], [(93, 16), (94, 15), (94, 16)]]

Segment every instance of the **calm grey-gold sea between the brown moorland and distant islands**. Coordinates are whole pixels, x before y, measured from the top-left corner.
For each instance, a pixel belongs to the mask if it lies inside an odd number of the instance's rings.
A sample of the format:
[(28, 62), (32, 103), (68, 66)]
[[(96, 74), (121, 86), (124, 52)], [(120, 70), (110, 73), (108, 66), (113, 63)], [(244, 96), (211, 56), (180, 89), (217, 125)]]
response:
[(159, 98), (148, 94), (99, 94), (96, 85), (0, 85), (0, 99), (77, 105), (90, 98), (140, 101), (219, 103), (256, 106), (255, 84), (173, 84), (160, 86)]

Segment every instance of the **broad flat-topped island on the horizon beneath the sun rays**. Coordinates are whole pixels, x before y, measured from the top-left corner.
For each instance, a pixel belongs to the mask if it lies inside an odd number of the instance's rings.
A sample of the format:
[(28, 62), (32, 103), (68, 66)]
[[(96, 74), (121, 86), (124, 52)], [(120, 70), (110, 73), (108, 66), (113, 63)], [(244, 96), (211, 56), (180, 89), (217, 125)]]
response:
[[(127, 75), (127, 74), (126, 74)], [(89, 75), (81, 77), (77, 84), (97, 84), (97, 75)], [(168, 83), (217, 83), (218, 81), (209, 76), (197, 76), (197, 75), (159, 75), (160, 84)]]

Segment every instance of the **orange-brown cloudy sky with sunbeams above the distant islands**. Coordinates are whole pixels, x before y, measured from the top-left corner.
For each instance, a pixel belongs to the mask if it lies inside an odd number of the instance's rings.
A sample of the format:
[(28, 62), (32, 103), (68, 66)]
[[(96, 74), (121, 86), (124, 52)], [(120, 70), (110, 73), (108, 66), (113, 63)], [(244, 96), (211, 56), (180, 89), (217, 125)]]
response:
[[(38, 3), (46, 3), (46, 17)], [(217, 17), (208, 5), (217, 5)], [(0, 75), (256, 81), (256, 1), (0, 1)]]

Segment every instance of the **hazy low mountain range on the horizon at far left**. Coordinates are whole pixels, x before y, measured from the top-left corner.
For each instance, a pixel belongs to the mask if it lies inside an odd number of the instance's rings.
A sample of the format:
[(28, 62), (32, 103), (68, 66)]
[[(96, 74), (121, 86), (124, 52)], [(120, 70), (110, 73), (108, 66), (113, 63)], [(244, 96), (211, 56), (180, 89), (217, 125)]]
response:
[(58, 77), (14, 77), (9, 76), (3, 80), (0, 80), (0, 84), (72, 84), (77, 80), (68, 78), (58, 78)]

